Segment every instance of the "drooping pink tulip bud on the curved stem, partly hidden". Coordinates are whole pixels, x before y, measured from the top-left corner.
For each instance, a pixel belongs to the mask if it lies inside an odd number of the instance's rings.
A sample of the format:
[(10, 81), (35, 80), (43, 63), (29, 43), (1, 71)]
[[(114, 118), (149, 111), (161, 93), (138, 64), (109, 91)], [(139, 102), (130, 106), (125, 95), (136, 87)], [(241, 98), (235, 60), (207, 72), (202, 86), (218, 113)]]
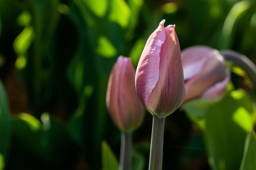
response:
[(186, 87), (184, 102), (220, 99), (230, 80), (222, 55), (207, 46), (193, 46), (184, 49), (181, 56)]

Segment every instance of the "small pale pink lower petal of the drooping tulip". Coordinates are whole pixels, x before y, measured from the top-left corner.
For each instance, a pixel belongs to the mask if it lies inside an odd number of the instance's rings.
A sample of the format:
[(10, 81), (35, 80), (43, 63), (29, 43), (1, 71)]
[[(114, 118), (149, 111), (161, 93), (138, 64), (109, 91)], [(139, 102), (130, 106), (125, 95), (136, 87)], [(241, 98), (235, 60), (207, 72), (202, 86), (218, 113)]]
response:
[(222, 97), (222, 95), (225, 94), (229, 80), (230, 80), (230, 75), (228, 75), (221, 82), (218, 82), (213, 86), (209, 87), (206, 91), (204, 91), (201, 98), (206, 100), (211, 100), (211, 101), (218, 101)]

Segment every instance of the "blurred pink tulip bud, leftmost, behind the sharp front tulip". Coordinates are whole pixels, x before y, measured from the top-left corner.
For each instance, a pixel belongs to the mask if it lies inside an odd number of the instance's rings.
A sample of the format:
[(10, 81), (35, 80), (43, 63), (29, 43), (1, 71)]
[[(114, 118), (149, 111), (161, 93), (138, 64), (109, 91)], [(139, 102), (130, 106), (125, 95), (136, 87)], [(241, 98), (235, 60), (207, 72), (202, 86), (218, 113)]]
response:
[(108, 80), (106, 104), (116, 126), (126, 132), (138, 128), (144, 117), (134, 79), (135, 68), (130, 58), (118, 57)]

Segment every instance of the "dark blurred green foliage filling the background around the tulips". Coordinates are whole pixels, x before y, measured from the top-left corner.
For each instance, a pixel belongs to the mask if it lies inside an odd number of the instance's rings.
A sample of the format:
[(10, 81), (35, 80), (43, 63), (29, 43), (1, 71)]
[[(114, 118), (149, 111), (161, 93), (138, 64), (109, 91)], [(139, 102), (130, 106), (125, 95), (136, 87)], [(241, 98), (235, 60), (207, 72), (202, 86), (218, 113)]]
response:
[[(181, 49), (233, 49), (256, 62), (255, 0), (0, 0), (0, 78), (8, 96), (0, 85), (0, 169), (104, 169), (103, 139), (118, 157), (108, 77), (119, 55), (137, 65), (162, 19), (176, 25)], [(249, 91), (245, 80), (232, 77)], [(246, 150), (255, 148), (251, 105), (235, 91), (207, 108), (203, 124), (182, 110), (166, 118), (163, 169), (238, 170), (243, 159), (247, 170), (254, 151)], [(133, 137), (139, 170), (148, 168), (151, 121), (147, 113)], [(103, 143), (103, 151), (110, 148)]]

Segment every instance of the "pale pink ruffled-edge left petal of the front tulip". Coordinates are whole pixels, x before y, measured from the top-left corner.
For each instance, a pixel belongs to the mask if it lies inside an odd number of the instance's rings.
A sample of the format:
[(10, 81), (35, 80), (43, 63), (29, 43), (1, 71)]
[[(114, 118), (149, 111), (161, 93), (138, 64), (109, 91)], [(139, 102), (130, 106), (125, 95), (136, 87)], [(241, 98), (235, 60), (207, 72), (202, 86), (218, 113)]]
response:
[(148, 38), (136, 70), (136, 91), (146, 108), (150, 94), (159, 79), (160, 51), (165, 41), (164, 22), (165, 20), (162, 20)]

